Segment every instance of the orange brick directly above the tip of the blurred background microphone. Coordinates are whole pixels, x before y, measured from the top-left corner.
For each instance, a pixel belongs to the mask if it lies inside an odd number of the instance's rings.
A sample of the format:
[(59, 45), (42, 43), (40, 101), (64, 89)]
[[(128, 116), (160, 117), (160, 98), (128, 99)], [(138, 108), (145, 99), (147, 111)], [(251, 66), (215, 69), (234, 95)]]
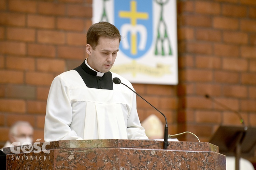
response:
[(221, 95), (221, 85), (219, 84), (209, 84), (209, 83), (197, 83), (196, 84), (196, 94), (204, 97), (205, 95), (220, 96)]

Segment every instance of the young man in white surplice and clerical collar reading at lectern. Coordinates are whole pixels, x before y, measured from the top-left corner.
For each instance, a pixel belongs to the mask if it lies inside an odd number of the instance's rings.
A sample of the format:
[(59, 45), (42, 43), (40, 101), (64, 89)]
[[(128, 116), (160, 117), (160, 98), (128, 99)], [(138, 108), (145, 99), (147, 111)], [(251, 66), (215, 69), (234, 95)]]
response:
[(45, 116), (44, 140), (148, 139), (137, 113), (136, 95), (110, 72), (121, 40), (108, 22), (93, 24), (87, 32), (88, 58), (81, 66), (52, 82)]

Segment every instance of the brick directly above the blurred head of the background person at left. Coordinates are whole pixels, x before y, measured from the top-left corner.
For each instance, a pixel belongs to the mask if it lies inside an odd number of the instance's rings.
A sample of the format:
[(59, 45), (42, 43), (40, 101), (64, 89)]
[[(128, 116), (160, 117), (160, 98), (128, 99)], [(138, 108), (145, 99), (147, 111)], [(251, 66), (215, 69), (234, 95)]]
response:
[[(33, 115), (11, 115), (11, 114), (9, 114), (7, 116), (8, 126), (13, 125), (17, 121), (27, 121), (31, 124), (31, 126), (34, 126), (34, 124), (35, 124), (35, 118)], [(34, 134), (35, 134), (35, 132), (34, 132)]]

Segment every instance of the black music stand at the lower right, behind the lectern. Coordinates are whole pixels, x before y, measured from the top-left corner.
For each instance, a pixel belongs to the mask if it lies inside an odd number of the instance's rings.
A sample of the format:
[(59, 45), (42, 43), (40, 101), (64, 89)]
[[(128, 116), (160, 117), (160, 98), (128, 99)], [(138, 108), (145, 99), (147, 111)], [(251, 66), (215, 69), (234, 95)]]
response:
[(240, 157), (253, 156), (256, 149), (256, 128), (247, 126), (219, 126), (209, 141), (219, 147), (219, 153), (236, 157), (239, 170)]

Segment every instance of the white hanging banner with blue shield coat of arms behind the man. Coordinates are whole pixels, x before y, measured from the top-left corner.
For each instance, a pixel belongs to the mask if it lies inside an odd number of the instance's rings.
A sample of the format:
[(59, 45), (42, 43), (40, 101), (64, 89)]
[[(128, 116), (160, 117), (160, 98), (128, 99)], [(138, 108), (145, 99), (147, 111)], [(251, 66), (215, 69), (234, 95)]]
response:
[(99, 21), (122, 35), (110, 71), (131, 83), (178, 84), (176, 0), (93, 0)]

